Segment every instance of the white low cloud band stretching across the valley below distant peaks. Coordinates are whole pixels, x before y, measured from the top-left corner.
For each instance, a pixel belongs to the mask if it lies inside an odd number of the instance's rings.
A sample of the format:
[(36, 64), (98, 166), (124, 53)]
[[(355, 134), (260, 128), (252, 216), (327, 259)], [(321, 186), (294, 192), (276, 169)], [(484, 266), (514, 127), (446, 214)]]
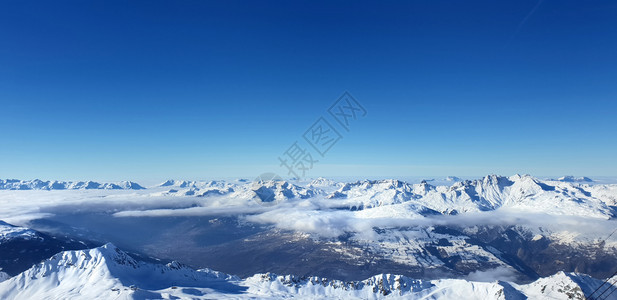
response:
[[(548, 215), (498, 209), (488, 212), (422, 217), (410, 207), (393, 206), (390, 210), (350, 211), (334, 208), (331, 199), (283, 202), (272, 207), (258, 205), (250, 198), (170, 197), (150, 192), (117, 191), (4, 191), (0, 193), (0, 215), (8, 222), (26, 225), (29, 220), (50, 215), (106, 213), (118, 218), (142, 217), (218, 217), (239, 219), (282, 230), (293, 230), (332, 238), (357, 233), (364, 239), (376, 239), (373, 228), (477, 225), (534, 228), (537, 234), (560, 233), (572, 240), (604, 239), (617, 228), (614, 220)], [(372, 211), (374, 210), (374, 211)], [(410, 213), (405, 213), (409, 210)], [(375, 212), (375, 213), (373, 213)], [(617, 243), (615, 236), (608, 240)]]

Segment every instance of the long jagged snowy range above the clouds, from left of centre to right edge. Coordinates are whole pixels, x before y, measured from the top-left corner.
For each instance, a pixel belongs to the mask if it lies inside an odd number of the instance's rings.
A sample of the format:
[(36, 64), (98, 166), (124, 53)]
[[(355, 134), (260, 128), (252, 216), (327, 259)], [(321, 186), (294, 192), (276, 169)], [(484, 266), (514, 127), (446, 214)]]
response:
[[(540, 180), (529, 175), (489, 175), (476, 180), (450, 178), (452, 185), (412, 184), (401, 180), (336, 182), (317, 178), (304, 185), (288, 181), (224, 182), (168, 180), (159, 185), (168, 196), (225, 196), (228, 203), (271, 199), (293, 203), (314, 199), (328, 207), (367, 210), (394, 207), (419, 215), (456, 215), (499, 209), (610, 219), (616, 215), (617, 185), (588, 185), (563, 180)], [(327, 201), (322, 201), (327, 200)], [(373, 210), (370, 210), (373, 209)], [(395, 217), (394, 215), (392, 217)]]

